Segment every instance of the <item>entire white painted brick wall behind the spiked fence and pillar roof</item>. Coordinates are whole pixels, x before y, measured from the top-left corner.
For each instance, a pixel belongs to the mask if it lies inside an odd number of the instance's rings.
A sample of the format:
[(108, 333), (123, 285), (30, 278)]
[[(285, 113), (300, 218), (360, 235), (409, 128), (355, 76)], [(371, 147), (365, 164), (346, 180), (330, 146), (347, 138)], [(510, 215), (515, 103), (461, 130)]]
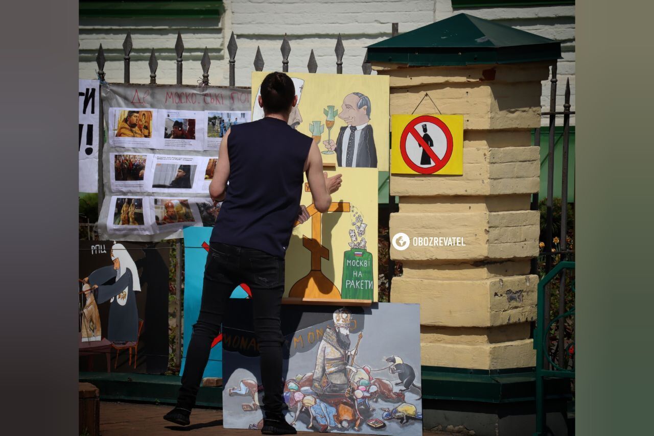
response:
[[(126, 20), (80, 21), (80, 78), (94, 78), (95, 54), (100, 42), (105, 48), (108, 81), (122, 82), (122, 42), (131, 30), (131, 81), (147, 83), (150, 50), (154, 47), (158, 60), (157, 82), (175, 83), (175, 39), (177, 31), (184, 39), (184, 84), (201, 79), (199, 65), (205, 46), (209, 48), (211, 84), (228, 83), (226, 44), (232, 31), (237, 36), (236, 84), (249, 86), (252, 62), (257, 46), (264, 57), (264, 70), (282, 69), (280, 46), (284, 33), (291, 46), (290, 71), (307, 71), (311, 49), (318, 63), (318, 72), (336, 73), (334, 47), (339, 33), (345, 46), (343, 73), (360, 74), (365, 46), (390, 37), (391, 23), (400, 24), (404, 33), (455, 13), (495, 20), (562, 44), (559, 59), (557, 110), (563, 109), (564, 86), (570, 78), (571, 104), (574, 110), (575, 90), (575, 8), (572, 6), (452, 9), (451, 0), (225, 0), (226, 13), (218, 19), (163, 20), (148, 19), (126, 26)], [(543, 81), (543, 110), (549, 110), (549, 81)], [(544, 121), (545, 124), (547, 121)], [(560, 124), (560, 123), (558, 123)], [(574, 124), (574, 116), (571, 124)]]

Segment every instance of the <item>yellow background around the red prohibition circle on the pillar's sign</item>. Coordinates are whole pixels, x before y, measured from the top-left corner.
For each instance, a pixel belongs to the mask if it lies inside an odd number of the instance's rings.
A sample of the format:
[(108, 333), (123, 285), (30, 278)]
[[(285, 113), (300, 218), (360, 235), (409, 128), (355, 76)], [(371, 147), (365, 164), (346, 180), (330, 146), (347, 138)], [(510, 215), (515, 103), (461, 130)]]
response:
[(421, 174), (409, 166), (402, 159), (400, 152), (400, 137), (404, 127), (415, 118), (422, 115), (433, 116), (438, 118), (452, 133), (453, 149), (445, 167), (433, 173), (434, 175), (463, 175), (463, 115), (440, 115), (440, 114), (400, 114), (391, 117), (391, 156), (390, 156), (390, 173), (392, 174)]

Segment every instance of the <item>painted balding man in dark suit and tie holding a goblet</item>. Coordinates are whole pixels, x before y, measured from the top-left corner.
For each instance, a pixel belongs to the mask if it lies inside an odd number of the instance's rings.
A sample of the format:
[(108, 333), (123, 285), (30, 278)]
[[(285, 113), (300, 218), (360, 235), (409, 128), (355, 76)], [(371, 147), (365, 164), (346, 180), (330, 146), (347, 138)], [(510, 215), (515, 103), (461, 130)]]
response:
[(347, 126), (341, 127), (336, 142), (323, 141), (327, 150), (336, 151), (339, 167), (377, 168), (377, 150), (370, 123), (370, 99), (353, 92), (345, 96), (338, 118)]

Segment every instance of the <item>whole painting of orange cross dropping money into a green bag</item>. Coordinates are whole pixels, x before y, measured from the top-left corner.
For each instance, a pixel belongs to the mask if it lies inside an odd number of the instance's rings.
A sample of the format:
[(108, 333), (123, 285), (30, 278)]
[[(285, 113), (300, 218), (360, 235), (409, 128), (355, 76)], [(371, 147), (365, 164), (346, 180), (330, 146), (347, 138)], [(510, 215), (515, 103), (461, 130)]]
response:
[(340, 167), (341, 189), (328, 212), (312, 203), (309, 186), (301, 197), (309, 216), (296, 222), (286, 250), (287, 302), (357, 304), (377, 301), (377, 173)]

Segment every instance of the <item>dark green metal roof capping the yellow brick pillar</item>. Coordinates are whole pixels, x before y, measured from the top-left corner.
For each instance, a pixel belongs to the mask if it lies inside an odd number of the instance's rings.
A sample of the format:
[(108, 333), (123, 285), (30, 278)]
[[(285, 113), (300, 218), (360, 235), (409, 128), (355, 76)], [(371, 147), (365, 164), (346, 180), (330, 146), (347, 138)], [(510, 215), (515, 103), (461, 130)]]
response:
[(368, 61), (421, 66), (560, 58), (560, 42), (468, 14), (456, 14), (368, 46)]

